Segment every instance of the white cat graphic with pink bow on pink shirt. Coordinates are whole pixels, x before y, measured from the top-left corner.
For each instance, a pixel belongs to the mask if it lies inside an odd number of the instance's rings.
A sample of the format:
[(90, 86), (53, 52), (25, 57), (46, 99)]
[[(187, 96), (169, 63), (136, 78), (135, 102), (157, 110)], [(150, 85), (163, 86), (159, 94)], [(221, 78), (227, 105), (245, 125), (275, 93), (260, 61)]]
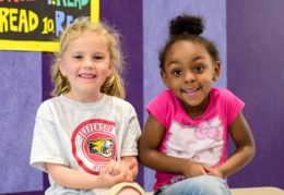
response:
[(164, 146), (169, 156), (216, 166), (223, 157), (224, 125), (220, 117), (201, 122), (198, 126), (173, 121)]

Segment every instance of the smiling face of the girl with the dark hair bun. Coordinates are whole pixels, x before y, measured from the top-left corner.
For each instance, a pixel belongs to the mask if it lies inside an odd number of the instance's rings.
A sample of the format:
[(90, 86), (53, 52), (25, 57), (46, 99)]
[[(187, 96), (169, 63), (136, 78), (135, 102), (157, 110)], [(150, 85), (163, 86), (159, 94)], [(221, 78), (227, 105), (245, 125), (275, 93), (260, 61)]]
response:
[(220, 75), (220, 62), (213, 63), (202, 45), (178, 40), (166, 53), (164, 70), (161, 75), (165, 85), (182, 101), (186, 110), (205, 111), (212, 81), (217, 81)]

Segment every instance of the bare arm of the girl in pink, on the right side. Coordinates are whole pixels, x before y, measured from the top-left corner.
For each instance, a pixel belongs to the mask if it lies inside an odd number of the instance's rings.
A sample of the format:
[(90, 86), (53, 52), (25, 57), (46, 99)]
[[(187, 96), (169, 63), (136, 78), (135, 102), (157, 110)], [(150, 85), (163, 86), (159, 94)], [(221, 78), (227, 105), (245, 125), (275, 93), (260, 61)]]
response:
[(229, 125), (229, 134), (236, 145), (234, 154), (216, 171), (226, 178), (244, 168), (255, 156), (256, 147), (250, 127), (240, 112)]

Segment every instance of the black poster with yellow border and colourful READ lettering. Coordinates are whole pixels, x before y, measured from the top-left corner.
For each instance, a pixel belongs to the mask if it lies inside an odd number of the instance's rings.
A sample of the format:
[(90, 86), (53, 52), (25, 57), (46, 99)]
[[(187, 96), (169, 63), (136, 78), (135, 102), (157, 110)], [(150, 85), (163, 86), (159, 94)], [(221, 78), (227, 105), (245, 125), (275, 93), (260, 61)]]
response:
[(58, 37), (78, 17), (99, 21), (99, 0), (0, 0), (0, 50), (58, 50)]

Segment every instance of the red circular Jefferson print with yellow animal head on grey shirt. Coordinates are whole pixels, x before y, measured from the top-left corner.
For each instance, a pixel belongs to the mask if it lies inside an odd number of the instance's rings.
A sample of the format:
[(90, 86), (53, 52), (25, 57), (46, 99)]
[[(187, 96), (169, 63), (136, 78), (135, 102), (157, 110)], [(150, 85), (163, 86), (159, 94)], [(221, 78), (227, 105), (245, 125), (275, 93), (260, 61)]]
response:
[(116, 124), (91, 119), (82, 122), (72, 134), (72, 154), (86, 172), (98, 174), (116, 157)]

